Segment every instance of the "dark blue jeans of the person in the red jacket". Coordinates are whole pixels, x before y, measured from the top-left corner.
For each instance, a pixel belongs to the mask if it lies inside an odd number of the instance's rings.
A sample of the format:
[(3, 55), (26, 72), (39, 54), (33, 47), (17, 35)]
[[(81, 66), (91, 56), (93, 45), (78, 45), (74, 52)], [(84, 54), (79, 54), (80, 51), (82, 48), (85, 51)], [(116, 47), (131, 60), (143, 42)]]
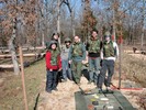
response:
[(57, 87), (57, 74), (58, 72), (49, 72), (47, 70), (47, 75), (46, 75), (46, 91), (52, 91), (54, 89), (56, 89)]

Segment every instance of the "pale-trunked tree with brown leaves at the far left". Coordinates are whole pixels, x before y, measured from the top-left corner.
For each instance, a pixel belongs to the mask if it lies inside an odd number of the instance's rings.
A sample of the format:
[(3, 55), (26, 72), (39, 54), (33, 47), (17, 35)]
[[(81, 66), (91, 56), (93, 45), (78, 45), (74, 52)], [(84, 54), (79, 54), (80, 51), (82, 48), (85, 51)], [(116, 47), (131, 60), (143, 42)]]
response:
[[(16, 48), (22, 45), (22, 36), (26, 33), (27, 40), (34, 40), (35, 36), (35, 3), (34, 1), (20, 1), (20, 0), (3, 0), (3, 20), (1, 22), (2, 30), (5, 38), (8, 40), (9, 50), (12, 56), (14, 66), (14, 75), (20, 73), (19, 63), (16, 58)], [(25, 32), (22, 33), (21, 28)], [(23, 30), (23, 31), (24, 31)], [(30, 36), (30, 37), (29, 37)]]

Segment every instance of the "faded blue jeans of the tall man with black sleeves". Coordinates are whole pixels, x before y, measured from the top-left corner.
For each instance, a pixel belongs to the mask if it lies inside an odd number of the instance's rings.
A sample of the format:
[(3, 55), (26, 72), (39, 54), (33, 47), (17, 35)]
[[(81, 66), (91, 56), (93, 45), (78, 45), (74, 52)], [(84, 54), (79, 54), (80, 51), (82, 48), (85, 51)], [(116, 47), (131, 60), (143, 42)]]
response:
[(89, 57), (89, 80), (98, 82), (98, 76), (100, 74), (100, 57), (91, 58)]

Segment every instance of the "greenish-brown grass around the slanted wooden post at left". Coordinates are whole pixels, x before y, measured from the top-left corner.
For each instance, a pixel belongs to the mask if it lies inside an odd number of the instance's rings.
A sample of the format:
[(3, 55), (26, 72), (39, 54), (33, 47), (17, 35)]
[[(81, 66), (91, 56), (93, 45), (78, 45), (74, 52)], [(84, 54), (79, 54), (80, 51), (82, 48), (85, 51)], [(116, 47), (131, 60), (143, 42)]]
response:
[[(24, 76), (29, 110), (33, 110), (41, 82), (46, 76), (45, 61), (25, 68)], [(0, 87), (0, 110), (24, 110), (21, 75), (5, 77), (3, 86)]]

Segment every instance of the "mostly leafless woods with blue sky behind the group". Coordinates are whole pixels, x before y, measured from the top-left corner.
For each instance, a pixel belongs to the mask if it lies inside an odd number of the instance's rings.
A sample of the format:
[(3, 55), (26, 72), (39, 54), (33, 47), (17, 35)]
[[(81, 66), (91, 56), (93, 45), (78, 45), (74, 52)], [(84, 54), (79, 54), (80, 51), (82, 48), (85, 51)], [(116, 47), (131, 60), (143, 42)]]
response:
[(54, 32), (65, 37), (81, 36), (92, 29), (99, 36), (109, 30), (113, 40), (144, 50), (145, 0), (0, 0), (0, 46), (10, 50), (16, 69), (19, 46), (44, 46)]

